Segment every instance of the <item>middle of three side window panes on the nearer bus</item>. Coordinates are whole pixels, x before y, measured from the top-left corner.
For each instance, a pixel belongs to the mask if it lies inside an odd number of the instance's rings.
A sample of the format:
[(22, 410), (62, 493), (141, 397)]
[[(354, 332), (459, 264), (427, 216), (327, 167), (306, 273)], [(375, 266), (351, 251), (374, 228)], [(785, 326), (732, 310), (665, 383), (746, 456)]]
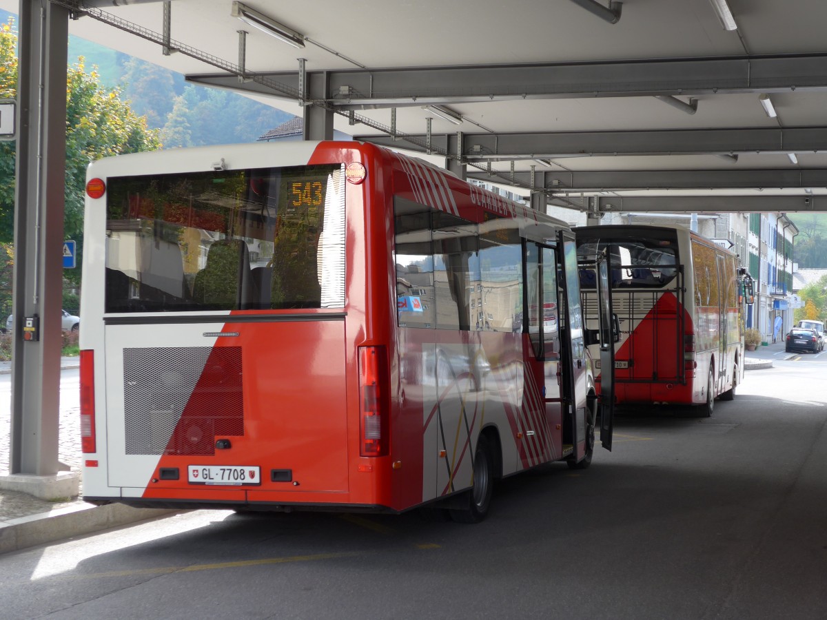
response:
[(433, 212), (431, 222), (437, 327), (480, 330), (485, 313), (476, 290), (480, 283), (476, 225), (441, 211)]

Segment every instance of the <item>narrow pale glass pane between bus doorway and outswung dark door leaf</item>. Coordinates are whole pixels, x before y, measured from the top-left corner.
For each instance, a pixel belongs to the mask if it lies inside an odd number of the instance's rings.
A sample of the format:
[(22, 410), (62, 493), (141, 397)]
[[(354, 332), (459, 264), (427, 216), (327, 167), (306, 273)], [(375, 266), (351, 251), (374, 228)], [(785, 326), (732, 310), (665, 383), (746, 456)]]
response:
[[(565, 317), (561, 317), (563, 415), (573, 429), (571, 441), (577, 446), (586, 439), (586, 341), (584, 340), (583, 308), (580, 299), (580, 272), (577, 266), (577, 246), (574, 233), (557, 232), (564, 296)], [(613, 366), (609, 366), (613, 368)]]

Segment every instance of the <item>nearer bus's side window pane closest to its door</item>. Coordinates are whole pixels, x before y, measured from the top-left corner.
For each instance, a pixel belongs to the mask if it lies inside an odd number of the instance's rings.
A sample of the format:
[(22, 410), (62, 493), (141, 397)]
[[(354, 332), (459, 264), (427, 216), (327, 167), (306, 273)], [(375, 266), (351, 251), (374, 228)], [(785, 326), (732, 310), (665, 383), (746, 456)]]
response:
[(483, 328), (491, 331), (523, 331), (523, 250), (513, 226), (504, 218), (480, 224)]

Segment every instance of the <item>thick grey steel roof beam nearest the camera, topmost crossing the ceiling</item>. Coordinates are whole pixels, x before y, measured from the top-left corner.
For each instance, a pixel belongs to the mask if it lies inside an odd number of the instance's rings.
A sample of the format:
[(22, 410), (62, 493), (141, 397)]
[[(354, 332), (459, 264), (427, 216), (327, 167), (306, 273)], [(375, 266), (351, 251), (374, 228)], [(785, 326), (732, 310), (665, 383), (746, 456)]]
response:
[[(827, 54), (326, 69), (329, 103), (343, 110), (514, 99), (695, 97), (710, 93), (827, 91)], [(294, 71), (256, 74), (298, 88)], [(190, 82), (289, 97), (235, 75), (190, 74)]]

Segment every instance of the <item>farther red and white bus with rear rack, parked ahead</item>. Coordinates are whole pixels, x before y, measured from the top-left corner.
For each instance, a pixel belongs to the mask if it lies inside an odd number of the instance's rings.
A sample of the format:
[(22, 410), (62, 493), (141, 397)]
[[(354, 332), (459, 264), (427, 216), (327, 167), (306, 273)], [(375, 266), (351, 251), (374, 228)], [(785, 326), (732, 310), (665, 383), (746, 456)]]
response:
[[(699, 405), (708, 417), (715, 398), (734, 398), (743, 379), (744, 285), (751, 280), (738, 257), (682, 227), (574, 230), (581, 260), (610, 256), (620, 335), (615, 403)], [(581, 269), (587, 326), (596, 320), (594, 280)]]

